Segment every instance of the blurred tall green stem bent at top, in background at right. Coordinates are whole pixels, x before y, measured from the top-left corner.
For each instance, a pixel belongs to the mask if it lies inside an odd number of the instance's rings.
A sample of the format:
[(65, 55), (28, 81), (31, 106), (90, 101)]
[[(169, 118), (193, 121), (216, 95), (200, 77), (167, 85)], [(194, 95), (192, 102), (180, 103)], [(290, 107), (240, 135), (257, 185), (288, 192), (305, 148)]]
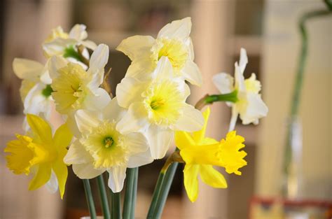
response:
[(287, 127), (286, 134), (286, 146), (284, 152), (284, 174), (288, 176), (289, 174), (289, 165), (291, 164), (291, 139), (292, 139), (292, 126), (293, 121), (296, 119), (298, 115), (298, 108), (300, 106), (300, 94), (303, 87), (303, 78), (305, 73), (305, 62), (307, 61), (307, 48), (308, 48), (308, 36), (307, 29), (305, 27), (305, 22), (314, 17), (321, 17), (325, 15), (332, 15), (331, 2), (325, 1), (328, 6), (328, 10), (314, 10), (308, 13), (305, 13), (298, 23), (298, 28), (300, 30), (300, 36), (302, 40), (302, 45), (300, 48), (300, 58), (298, 60), (298, 69), (296, 71), (296, 79), (293, 90), (293, 97), (291, 99), (291, 109), (289, 115), (289, 125)]

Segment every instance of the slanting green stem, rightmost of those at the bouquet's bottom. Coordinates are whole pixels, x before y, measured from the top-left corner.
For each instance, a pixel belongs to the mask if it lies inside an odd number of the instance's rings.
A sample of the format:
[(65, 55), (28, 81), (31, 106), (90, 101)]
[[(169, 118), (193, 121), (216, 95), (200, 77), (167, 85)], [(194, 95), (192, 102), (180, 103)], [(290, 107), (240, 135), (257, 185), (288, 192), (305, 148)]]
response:
[(150, 208), (148, 209), (148, 219), (160, 218), (162, 210), (164, 209), (168, 193), (173, 182), (175, 171), (178, 163), (174, 162), (170, 165), (166, 172), (160, 171), (157, 184), (153, 192)]

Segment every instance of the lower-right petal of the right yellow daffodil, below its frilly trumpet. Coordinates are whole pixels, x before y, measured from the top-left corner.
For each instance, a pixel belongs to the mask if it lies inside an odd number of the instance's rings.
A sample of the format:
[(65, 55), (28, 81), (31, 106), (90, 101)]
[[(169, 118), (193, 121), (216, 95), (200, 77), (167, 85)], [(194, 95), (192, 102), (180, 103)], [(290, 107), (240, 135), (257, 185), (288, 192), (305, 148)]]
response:
[(200, 178), (213, 188), (227, 188), (226, 179), (212, 165), (200, 165)]

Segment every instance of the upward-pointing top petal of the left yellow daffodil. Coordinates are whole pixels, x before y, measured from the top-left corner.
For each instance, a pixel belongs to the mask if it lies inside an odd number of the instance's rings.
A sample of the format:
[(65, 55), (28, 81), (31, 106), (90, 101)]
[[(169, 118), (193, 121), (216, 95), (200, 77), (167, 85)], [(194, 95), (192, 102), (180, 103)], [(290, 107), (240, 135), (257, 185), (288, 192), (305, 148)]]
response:
[(27, 122), (36, 135), (37, 143), (51, 143), (52, 142), (52, 129), (48, 122), (43, 120), (37, 115), (27, 114)]

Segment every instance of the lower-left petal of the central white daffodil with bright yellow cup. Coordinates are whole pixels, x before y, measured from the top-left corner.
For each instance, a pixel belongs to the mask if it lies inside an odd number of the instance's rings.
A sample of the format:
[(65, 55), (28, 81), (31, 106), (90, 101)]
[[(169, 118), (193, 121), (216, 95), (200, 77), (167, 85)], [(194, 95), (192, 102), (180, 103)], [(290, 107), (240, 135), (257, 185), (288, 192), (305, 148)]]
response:
[(118, 132), (127, 134), (139, 132), (148, 126), (146, 109), (141, 102), (134, 102), (130, 105), (127, 113), (116, 125)]

